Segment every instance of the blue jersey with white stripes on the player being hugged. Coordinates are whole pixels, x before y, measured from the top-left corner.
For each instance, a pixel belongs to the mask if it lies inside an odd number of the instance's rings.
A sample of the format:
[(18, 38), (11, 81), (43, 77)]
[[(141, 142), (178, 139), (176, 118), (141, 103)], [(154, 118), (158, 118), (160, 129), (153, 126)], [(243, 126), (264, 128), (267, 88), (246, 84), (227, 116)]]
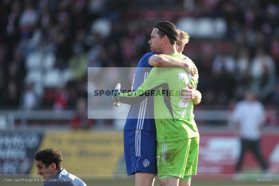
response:
[[(132, 91), (135, 91), (147, 78), (152, 69), (148, 60), (155, 54), (153, 52), (144, 54), (139, 60), (133, 79)], [(153, 96), (148, 96), (138, 105), (131, 105), (123, 130), (135, 129), (156, 133)]]

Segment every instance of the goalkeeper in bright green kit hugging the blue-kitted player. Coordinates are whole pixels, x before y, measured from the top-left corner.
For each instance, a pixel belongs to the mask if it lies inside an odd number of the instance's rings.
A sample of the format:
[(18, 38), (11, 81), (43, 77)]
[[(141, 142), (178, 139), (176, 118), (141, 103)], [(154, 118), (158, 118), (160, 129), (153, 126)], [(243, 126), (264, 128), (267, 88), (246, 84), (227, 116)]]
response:
[[(158, 35), (159, 29), (155, 27), (151, 33), (148, 42), (151, 50), (186, 58), (176, 51), (175, 45)], [(154, 95), (157, 167), (161, 185), (190, 185), (191, 175), (197, 172), (199, 133), (193, 119), (193, 101), (183, 102), (179, 94), (181, 87), (187, 84), (196, 90), (197, 82), (198, 75), (192, 76), (185, 69), (154, 67), (136, 91), (117, 95), (117, 102), (125, 104), (139, 104), (146, 96)]]

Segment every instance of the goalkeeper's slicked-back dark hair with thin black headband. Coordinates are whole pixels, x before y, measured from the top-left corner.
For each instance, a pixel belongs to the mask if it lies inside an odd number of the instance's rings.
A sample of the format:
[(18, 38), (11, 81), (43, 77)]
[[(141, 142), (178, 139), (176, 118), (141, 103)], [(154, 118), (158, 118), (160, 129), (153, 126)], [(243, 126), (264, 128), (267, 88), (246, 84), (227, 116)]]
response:
[(169, 21), (161, 21), (155, 25), (154, 28), (159, 29), (158, 34), (160, 38), (167, 36), (170, 40), (170, 44), (174, 45), (179, 39), (179, 32), (176, 26)]

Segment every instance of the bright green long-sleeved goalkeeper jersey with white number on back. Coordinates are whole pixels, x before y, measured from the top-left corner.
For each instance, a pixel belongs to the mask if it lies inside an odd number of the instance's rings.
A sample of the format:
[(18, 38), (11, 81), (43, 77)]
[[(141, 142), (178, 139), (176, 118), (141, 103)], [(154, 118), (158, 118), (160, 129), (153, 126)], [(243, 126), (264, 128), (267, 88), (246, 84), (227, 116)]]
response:
[[(171, 56), (184, 59), (183, 54)], [(181, 88), (187, 82), (197, 89), (198, 75), (194, 77), (184, 68), (154, 67), (146, 80), (134, 92), (118, 95), (125, 104), (139, 104), (146, 96), (154, 96), (154, 119), (158, 142), (177, 141), (198, 137), (194, 121), (193, 101), (180, 99)]]

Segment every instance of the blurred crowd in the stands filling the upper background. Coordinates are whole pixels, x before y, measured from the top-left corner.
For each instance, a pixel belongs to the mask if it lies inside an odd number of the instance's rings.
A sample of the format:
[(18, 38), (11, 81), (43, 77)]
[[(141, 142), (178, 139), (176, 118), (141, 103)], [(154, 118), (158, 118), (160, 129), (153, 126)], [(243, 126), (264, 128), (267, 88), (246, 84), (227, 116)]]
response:
[[(231, 108), (250, 89), (276, 108), (278, 9), (277, 0), (2, 0), (1, 108), (74, 108), (87, 99), (87, 67), (135, 67), (161, 20), (190, 35), (183, 53), (199, 70), (201, 106)], [(191, 35), (185, 18), (205, 31), (218, 19), (224, 32)]]

